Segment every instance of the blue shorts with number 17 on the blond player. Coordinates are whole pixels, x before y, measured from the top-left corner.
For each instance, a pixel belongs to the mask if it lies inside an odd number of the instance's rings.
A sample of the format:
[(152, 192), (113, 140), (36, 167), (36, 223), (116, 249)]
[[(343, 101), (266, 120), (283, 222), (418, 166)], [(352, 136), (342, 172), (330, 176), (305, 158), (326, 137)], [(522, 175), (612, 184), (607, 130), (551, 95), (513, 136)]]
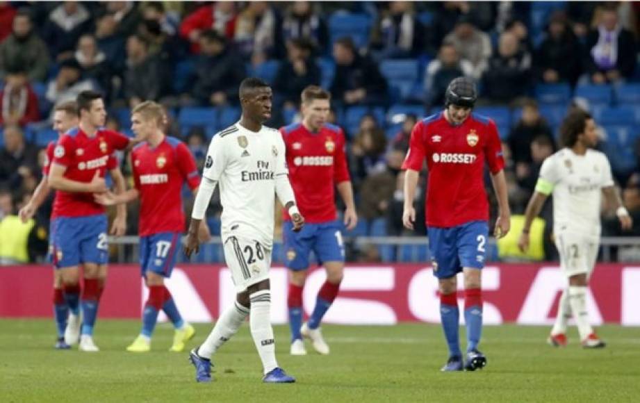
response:
[(147, 270), (170, 277), (176, 265), (180, 233), (163, 232), (140, 237), (140, 272), (145, 277)]

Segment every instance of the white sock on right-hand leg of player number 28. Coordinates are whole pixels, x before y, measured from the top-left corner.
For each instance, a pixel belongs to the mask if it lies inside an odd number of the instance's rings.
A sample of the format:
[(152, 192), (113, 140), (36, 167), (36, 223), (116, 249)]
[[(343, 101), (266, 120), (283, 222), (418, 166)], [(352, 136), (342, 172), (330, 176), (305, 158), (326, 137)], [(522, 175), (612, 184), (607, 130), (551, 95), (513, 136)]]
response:
[(251, 302), (251, 316), (249, 317), (251, 336), (254, 338), (266, 375), (278, 366), (276, 344), (271, 327), (271, 292), (270, 290), (257, 291), (249, 295), (249, 301)]

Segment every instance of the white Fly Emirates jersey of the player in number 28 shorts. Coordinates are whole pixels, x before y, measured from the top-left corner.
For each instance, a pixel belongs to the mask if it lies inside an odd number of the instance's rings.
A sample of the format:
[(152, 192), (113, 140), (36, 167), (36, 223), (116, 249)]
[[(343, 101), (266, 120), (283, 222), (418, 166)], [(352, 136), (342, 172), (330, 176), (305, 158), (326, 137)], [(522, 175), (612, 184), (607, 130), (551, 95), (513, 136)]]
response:
[(209, 145), (202, 176), (218, 181), (222, 202), (221, 235), (240, 235), (272, 248), (275, 179), (287, 175), (284, 141), (279, 131), (259, 132), (233, 124)]

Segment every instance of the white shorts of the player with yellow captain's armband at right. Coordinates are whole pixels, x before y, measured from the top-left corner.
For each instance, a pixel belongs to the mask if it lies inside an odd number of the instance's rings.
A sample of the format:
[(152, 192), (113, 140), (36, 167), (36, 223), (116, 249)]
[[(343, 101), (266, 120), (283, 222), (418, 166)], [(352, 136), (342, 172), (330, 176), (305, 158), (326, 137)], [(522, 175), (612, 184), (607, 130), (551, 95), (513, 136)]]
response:
[(555, 245), (560, 254), (560, 267), (568, 278), (576, 274), (591, 276), (598, 258), (600, 237), (575, 232), (555, 234)]

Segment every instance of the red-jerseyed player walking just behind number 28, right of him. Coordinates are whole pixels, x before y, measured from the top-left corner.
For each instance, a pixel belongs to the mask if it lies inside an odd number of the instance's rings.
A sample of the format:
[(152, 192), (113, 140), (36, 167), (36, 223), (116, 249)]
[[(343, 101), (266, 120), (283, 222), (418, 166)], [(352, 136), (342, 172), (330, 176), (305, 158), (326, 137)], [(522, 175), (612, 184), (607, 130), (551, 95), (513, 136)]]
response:
[[(344, 224), (356, 226), (358, 217), (347, 158), (345, 135), (338, 126), (327, 123), (331, 94), (315, 85), (302, 92), (302, 123), (280, 129), (286, 145), (291, 186), (300, 213), (306, 220), (302, 231), (293, 231), (290, 217), (284, 211), (285, 264), (290, 270), (289, 326), (290, 353), (304, 355), (302, 336), (308, 337), (320, 354), (329, 354), (322, 338), (320, 321), (338, 295), (345, 267), (345, 248), (334, 201), (334, 186), (345, 202)], [(320, 288), (309, 322), (302, 324), (302, 289), (309, 269), (309, 254), (313, 251), (318, 263), (325, 266), (327, 280)]]

